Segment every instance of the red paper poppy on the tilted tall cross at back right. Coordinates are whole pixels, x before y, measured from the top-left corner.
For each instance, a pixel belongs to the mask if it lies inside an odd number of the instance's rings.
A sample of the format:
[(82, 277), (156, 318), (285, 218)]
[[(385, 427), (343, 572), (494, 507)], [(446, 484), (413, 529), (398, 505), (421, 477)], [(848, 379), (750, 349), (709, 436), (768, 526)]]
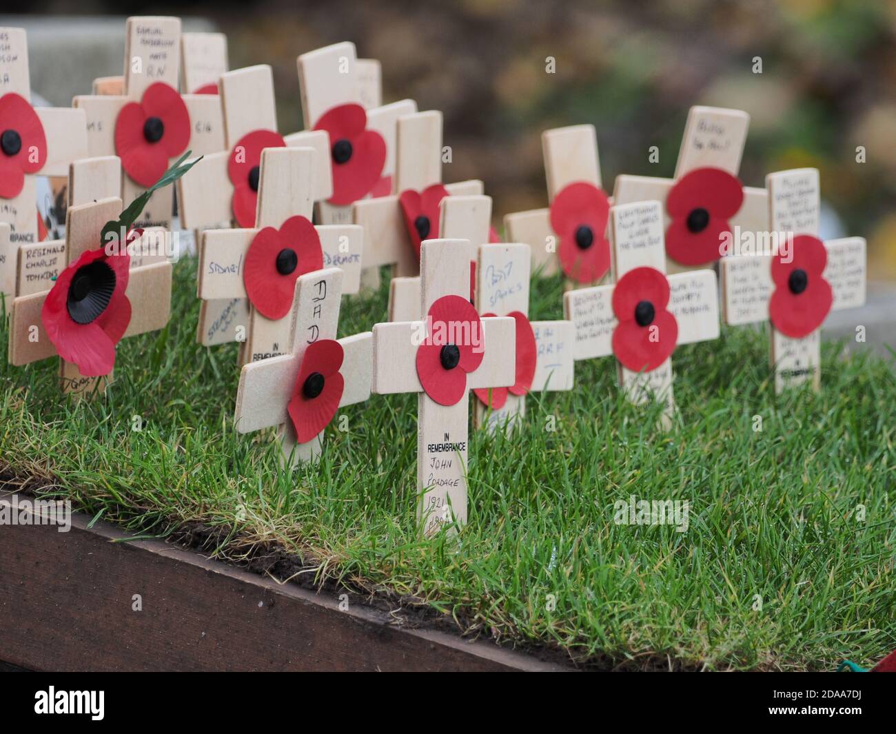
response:
[(695, 168), (679, 178), (666, 198), (672, 218), (666, 230), (666, 252), (676, 263), (715, 263), (728, 222), (744, 203), (744, 187), (721, 168)]

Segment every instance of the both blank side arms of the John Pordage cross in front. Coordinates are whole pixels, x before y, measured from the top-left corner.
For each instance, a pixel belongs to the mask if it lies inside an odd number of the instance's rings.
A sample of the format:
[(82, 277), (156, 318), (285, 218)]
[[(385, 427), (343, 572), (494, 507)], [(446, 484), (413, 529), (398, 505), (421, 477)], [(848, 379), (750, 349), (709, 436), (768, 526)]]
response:
[[(508, 387), (516, 380), (516, 322), (510, 316), (481, 319), (485, 354), (479, 367), (467, 375), (467, 387)], [(374, 326), (374, 379), (372, 390), (381, 395), (420, 393), (415, 341), (424, 333), (422, 322)]]

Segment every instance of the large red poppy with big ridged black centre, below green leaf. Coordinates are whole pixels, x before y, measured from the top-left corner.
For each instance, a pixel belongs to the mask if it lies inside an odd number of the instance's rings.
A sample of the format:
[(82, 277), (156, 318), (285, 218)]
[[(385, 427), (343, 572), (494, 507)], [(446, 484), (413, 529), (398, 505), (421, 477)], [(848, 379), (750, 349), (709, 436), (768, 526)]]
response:
[(108, 375), (115, 367), (116, 344), (131, 323), (125, 295), (130, 264), (130, 255), (88, 250), (59, 274), (44, 301), (40, 319), (47, 337), (83, 376)]

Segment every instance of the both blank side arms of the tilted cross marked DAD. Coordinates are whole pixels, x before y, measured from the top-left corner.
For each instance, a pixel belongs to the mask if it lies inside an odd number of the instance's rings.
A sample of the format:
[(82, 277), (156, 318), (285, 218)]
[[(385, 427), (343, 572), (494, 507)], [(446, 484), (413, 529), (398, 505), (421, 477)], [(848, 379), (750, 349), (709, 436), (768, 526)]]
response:
[[(364, 402), (370, 397), (371, 332), (340, 339), (344, 381), (340, 407)], [(251, 433), (289, 421), (289, 400), (296, 388), (302, 360), (293, 354), (262, 359), (243, 366), (237, 387), (234, 425), (237, 433)]]

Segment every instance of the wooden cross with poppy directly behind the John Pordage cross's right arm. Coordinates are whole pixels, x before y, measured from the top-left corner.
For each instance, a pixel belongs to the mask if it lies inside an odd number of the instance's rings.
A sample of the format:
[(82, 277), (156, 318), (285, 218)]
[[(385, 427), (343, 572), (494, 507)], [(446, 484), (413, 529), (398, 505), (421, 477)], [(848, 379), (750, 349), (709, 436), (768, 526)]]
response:
[[(489, 430), (504, 426), (510, 430), (525, 415), (526, 393), (573, 389), (573, 323), (570, 321), (529, 321), (529, 282), (532, 255), (524, 243), (479, 246), (476, 269), (476, 310), (480, 314), (513, 316), (517, 326), (517, 384), (506, 391), (506, 402), (495, 406), (503, 395), (477, 391), (476, 425)], [(522, 318), (521, 318), (522, 316)], [(521, 330), (531, 332), (521, 339)], [(524, 342), (524, 343), (521, 343)], [(534, 365), (527, 363), (525, 351), (534, 350)], [(534, 367), (534, 372), (528, 369)], [(524, 375), (521, 375), (524, 373)], [(530, 380), (530, 383), (527, 384)], [(487, 410), (491, 404), (492, 410)]]

